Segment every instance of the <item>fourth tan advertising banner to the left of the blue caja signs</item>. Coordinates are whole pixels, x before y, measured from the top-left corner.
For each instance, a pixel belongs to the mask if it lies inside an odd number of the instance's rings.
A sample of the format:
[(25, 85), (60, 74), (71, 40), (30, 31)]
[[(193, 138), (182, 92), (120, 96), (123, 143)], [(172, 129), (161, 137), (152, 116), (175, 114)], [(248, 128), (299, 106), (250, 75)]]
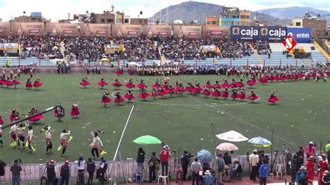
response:
[(112, 36), (115, 38), (137, 38), (142, 34), (141, 25), (113, 24)]

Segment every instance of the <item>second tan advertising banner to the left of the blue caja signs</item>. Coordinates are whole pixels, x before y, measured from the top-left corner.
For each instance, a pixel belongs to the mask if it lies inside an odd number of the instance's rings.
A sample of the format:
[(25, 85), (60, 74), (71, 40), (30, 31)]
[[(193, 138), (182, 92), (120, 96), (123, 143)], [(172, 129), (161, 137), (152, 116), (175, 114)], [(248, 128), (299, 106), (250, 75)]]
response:
[(176, 38), (201, 38), (202, 26), (173, 26), (173, 33)]

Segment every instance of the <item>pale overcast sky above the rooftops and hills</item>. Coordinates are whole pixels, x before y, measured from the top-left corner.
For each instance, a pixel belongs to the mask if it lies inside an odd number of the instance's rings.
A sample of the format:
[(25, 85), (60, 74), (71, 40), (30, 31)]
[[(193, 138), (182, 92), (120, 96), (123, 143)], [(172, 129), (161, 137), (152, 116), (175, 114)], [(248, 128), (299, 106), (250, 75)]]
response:
[[(205, 3), (217, 3), (223, 6), (233, 6), (246, 10), (261, 10), (265, 8), (283, 8), (290, 6), (308, 6), (322, 10), (330, 10), (327, 0), (199, 0)], [(75, 13), (102, 13), (103, 10), (124, 11), (126, 15), (137, 17), (140, 10), (143, 10), (142, 17), (150, 17), (161, 8), (182, 3), (184, 0), (0, 0), (0, 18), (8, 21), (11, 17), (31, 15), (31, 12), (42, 12), (42, 17), (50, 18), (52, 21), (67, 19), (68, 13), (71, 18)]]

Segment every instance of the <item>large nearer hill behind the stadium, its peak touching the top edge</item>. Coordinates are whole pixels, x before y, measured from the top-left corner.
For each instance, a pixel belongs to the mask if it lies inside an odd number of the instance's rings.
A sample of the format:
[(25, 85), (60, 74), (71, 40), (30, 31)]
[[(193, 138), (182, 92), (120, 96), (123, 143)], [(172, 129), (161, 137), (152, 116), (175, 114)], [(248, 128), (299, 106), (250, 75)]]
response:
[[(183, 22), (189, 23), (192, 20), (198, 20), (198, 23), (205, 24), (205, 17), (208, 13), (221, 13), (223, 6), (219, 6), (212, 3), (201, 3), (196, 1), (187, 1), (178, 5), (169, 6), (169, 22), (173, 22), (175, 19), (180, 19)], [(159, 21), (159, 17), (162, 17), (162, 22), (166, 22), (167, 7), (159, 10), (153, 17), (149, 18), (149, 21)], [(272, 17), (265, 13), (252, 12), (251, 19), (257, 17), (258, 20), (267, 20), (268, 26), (288, 24), (291, 23), (290, 19), (279, 19)]]

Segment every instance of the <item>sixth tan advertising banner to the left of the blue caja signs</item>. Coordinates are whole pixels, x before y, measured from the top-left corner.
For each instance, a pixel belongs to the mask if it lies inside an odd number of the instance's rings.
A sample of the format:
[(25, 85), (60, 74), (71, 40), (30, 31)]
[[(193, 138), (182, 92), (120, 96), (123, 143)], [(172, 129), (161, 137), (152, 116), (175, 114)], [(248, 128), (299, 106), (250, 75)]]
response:
[(71, 24), (71, 23), (47, 23), (46, 29), (47, 33), (52, 33), (53, 35), (61, 35), (68, 37), (77, 37), (79, 24)]

